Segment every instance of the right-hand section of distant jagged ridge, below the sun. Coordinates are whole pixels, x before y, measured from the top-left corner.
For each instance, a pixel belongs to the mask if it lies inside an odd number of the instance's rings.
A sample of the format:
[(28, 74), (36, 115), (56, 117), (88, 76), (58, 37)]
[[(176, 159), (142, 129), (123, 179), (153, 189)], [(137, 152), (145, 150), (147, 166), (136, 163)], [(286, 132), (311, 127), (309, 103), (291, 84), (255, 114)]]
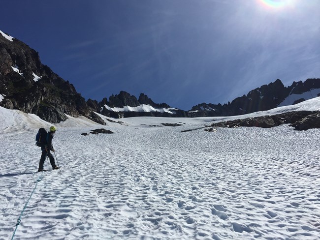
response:
[(237, 116), (276, 107), (293, 105), (320, 96), (320, 79), (293, 82), (285, 87), (280, 79), (274, 83), (251, 90), (247, 95), (235, 98), (227, 104), (202, 103), (192, 107), (190, 117)]

